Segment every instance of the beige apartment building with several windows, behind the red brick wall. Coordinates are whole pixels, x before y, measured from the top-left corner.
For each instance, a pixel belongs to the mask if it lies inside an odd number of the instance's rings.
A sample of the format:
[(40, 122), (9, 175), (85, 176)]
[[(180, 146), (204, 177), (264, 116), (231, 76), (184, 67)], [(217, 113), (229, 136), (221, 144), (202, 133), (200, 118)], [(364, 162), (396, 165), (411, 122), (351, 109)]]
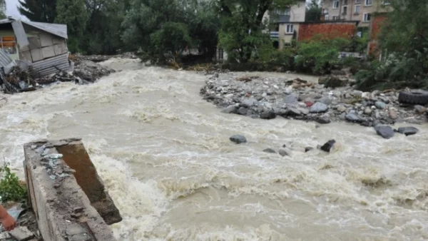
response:
[(372, 14), (391, 11), (391, 0), (323, 0), (325, 21), (360, 21), (359, 27), (370, 26)]

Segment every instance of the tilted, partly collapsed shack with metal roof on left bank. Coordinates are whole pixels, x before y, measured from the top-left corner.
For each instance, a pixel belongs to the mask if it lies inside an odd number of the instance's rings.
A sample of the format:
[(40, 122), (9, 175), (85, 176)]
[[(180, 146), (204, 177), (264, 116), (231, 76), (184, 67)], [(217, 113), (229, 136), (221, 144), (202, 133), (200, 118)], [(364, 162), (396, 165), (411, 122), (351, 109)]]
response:
[(0, 20), (1, 80), (5, 82), (16, 67), (39, 77), (72, 72), (74, 63), (68, 59), (67, 39), (66, 24)]

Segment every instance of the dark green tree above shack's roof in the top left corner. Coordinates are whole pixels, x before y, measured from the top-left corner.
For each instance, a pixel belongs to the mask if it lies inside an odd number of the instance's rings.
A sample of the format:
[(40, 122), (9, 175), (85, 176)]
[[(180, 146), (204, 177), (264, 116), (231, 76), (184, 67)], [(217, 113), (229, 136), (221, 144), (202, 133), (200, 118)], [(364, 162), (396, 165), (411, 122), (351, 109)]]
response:
[(18, 10), (31, 21), (53, 23), (56, 18), (56, 0), (19, 0)]

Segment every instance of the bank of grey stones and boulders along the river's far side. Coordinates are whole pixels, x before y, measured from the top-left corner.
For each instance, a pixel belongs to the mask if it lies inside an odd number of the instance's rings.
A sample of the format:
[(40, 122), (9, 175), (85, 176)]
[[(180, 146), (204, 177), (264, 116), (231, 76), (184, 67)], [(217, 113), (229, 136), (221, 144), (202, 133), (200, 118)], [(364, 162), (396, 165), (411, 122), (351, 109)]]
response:
[(262, 78), (243, 73), (215, 73), (200, 91), (205, 100), (253, 118), (277, 116), (315, 120), (321, 124), (345, 120), (365, 126), (397, 122), (424, 123), (424, 106), (402, 106), (399, 92), (357, 91), (347, 84), (340, 88), (300, 78)]

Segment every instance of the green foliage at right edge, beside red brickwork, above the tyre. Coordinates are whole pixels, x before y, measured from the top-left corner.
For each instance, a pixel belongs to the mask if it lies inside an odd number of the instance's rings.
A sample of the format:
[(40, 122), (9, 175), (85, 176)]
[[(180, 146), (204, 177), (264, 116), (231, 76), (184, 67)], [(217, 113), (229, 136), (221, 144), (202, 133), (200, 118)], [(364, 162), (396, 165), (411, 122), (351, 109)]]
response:
[(358, 87), (428, 87), (427, 1), (394, 0), (379, 35), (384, 59), (356, 74)]

